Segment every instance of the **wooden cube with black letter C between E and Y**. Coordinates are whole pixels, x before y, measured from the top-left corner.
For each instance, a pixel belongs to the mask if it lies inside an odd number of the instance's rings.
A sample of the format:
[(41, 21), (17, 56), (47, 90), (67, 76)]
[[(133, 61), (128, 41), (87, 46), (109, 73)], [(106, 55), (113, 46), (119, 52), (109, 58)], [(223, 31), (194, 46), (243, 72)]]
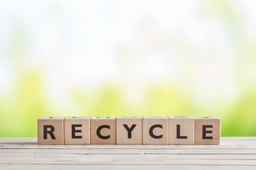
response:
[(116, 144), (116, 118), (91, 117), (91, 144)]

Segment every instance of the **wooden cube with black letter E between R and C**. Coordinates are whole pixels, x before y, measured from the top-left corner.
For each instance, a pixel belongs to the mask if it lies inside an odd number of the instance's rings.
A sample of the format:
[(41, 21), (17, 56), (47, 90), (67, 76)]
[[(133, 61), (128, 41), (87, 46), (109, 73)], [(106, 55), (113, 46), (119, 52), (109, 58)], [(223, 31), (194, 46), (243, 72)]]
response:
[(90, 117), (65, 117), (64, 144), (90, 144)]

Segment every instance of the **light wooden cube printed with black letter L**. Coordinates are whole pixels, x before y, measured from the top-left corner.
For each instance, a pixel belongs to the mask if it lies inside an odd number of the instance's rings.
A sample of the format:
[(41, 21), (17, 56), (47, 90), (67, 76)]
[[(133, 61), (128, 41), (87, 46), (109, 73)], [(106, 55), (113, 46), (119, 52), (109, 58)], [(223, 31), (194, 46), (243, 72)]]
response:
[(169, 144), (194, 144), (195, 118), (193, 116), (168, 116)]

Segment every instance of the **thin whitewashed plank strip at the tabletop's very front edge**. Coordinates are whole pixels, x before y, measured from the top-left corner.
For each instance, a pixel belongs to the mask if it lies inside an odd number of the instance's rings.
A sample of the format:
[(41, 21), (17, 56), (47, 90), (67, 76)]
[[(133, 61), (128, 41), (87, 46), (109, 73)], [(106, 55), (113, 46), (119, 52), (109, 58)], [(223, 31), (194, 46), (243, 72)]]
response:
[(69, 165), (69, 164), (0, 164), (0, 169), (8, 170), (70, 170), (73, 168), (81, 169), (95, 169), (95, 170), (255, 170), (256, 166), (226, 166), (226, 165)]

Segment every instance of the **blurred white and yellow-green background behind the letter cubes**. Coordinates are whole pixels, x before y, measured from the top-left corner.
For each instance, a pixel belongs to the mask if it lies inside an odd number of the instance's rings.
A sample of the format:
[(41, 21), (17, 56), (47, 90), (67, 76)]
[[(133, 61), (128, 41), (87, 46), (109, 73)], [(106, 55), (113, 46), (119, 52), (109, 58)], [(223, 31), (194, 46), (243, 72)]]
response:
[(1, 0), (0, 137), (39, 116), (219, 116), (256, 136), (256, 1)]

